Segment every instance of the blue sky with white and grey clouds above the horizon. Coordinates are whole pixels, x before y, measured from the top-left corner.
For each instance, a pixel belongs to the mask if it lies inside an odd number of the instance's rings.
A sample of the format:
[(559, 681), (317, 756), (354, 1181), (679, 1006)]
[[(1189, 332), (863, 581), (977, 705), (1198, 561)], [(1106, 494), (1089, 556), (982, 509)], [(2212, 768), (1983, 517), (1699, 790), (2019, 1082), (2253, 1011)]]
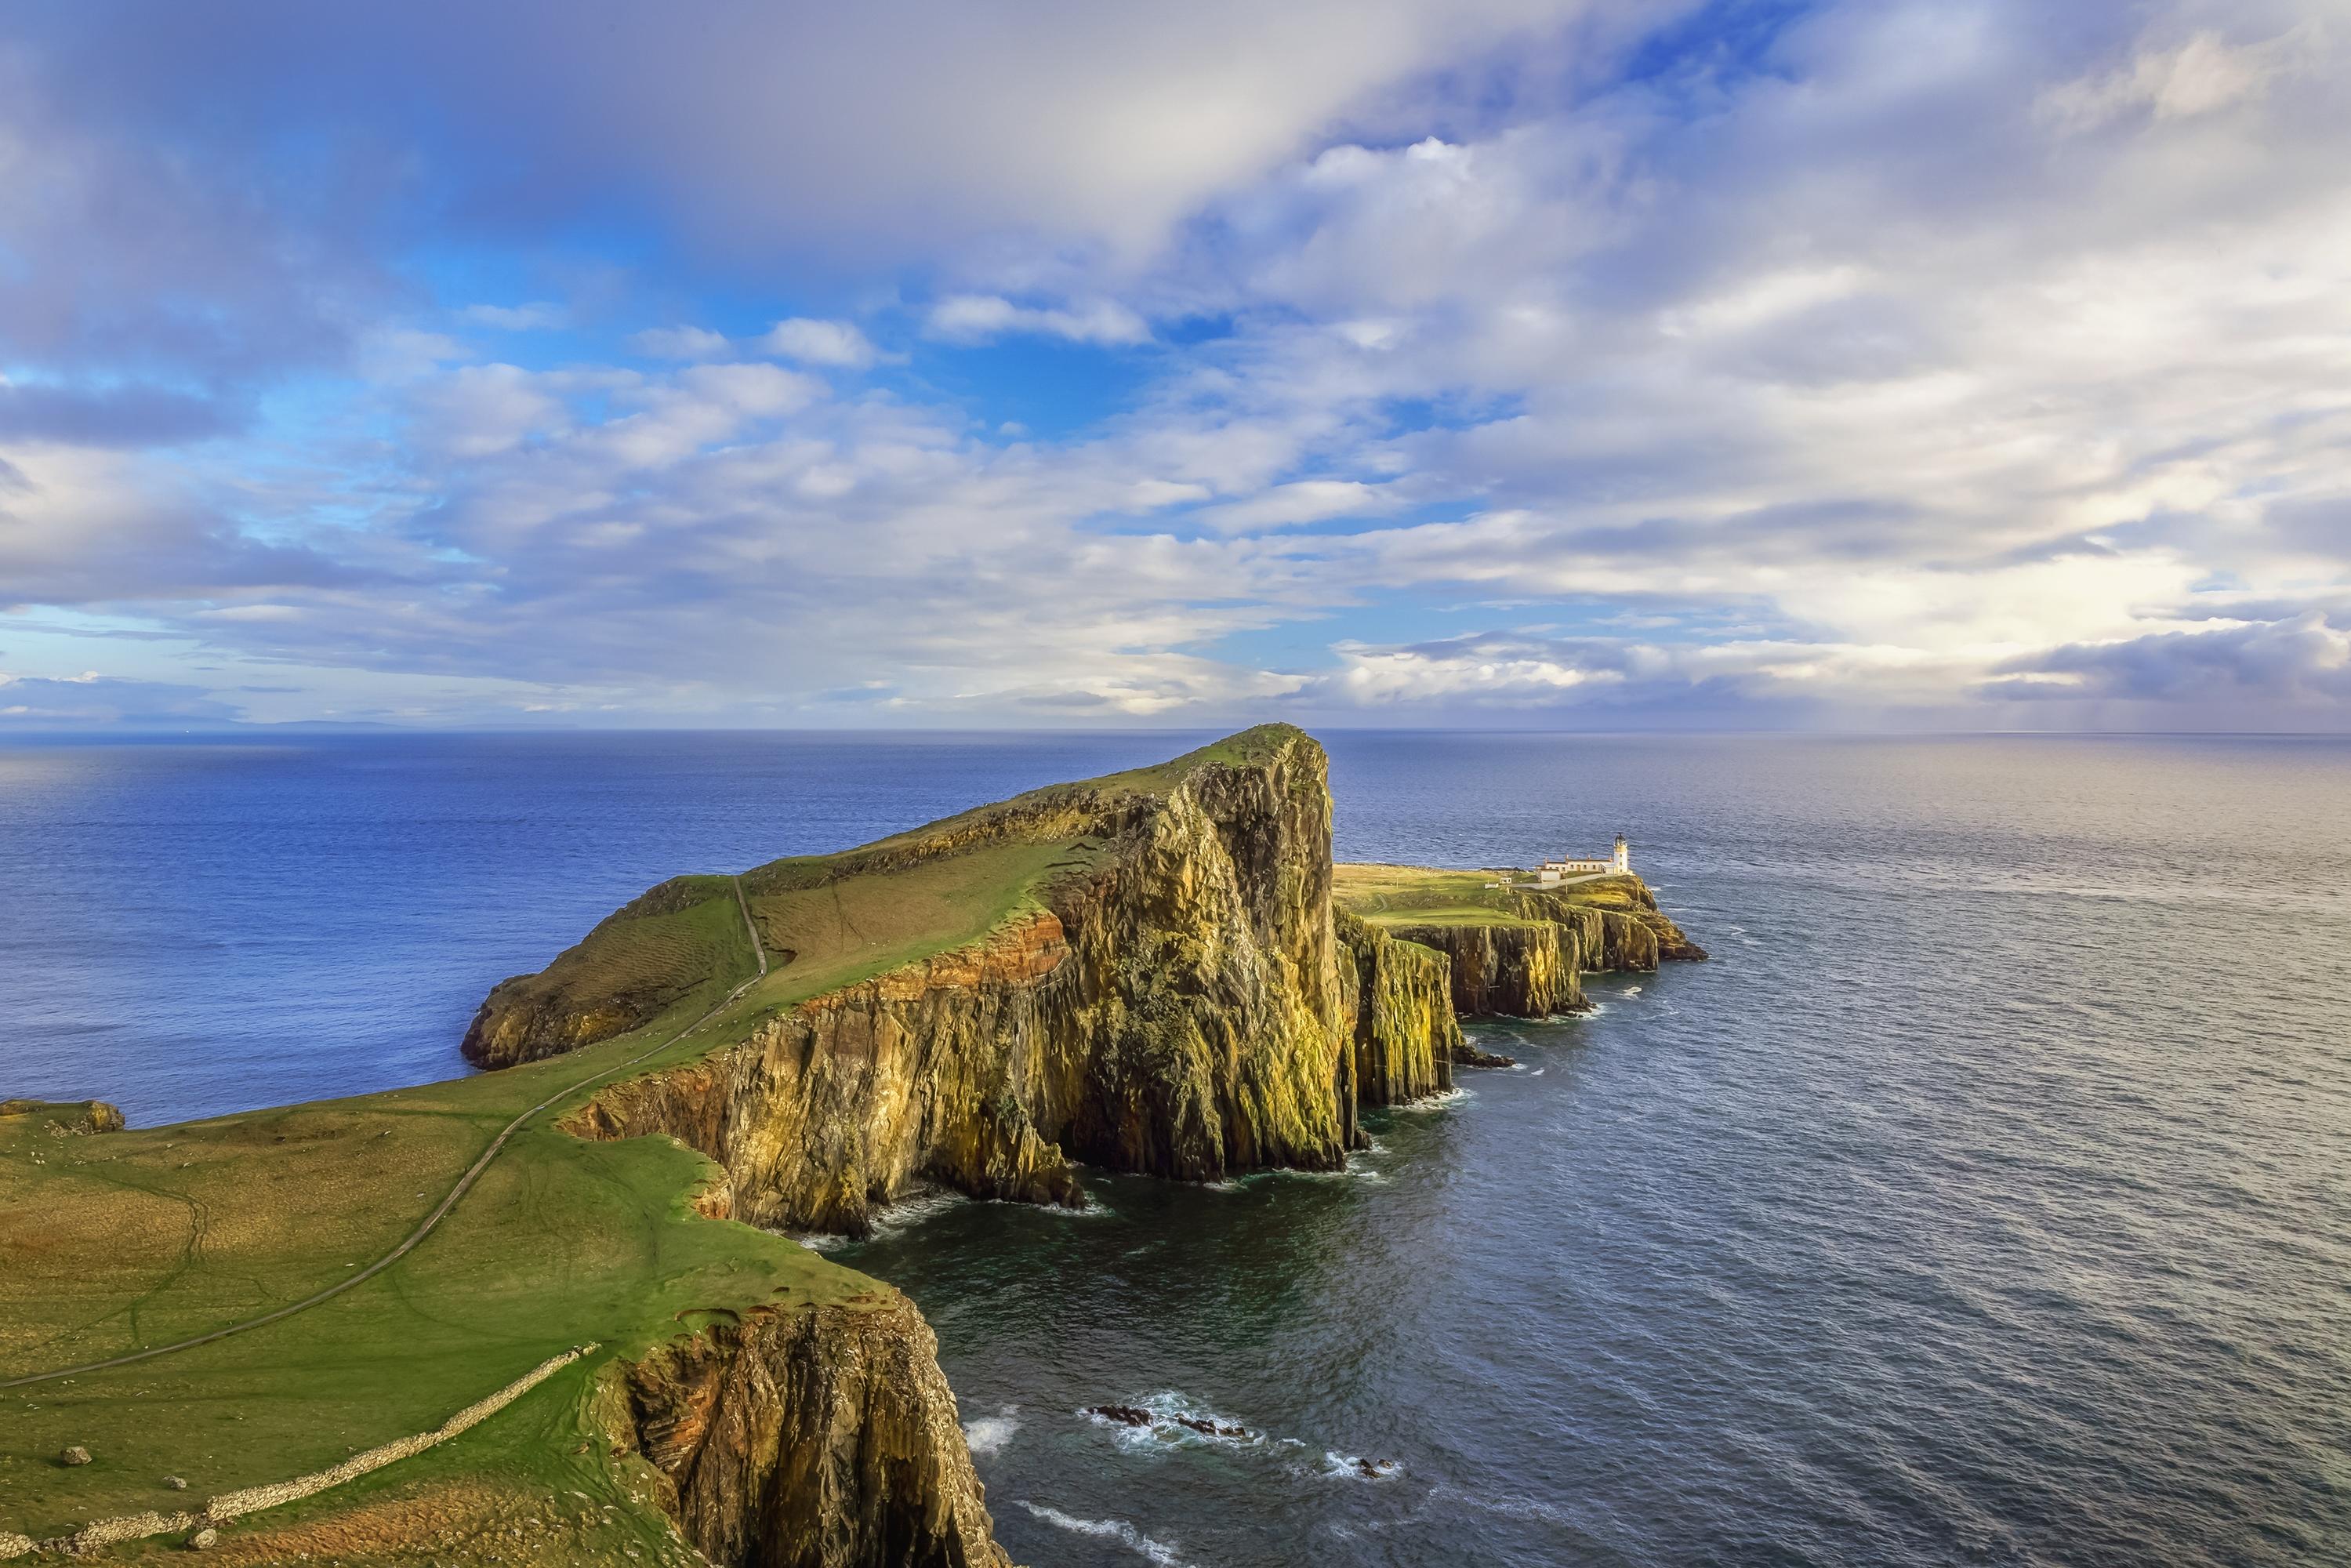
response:
[(0, 738), (2351, 729), (2351, 0), (31, 0)]

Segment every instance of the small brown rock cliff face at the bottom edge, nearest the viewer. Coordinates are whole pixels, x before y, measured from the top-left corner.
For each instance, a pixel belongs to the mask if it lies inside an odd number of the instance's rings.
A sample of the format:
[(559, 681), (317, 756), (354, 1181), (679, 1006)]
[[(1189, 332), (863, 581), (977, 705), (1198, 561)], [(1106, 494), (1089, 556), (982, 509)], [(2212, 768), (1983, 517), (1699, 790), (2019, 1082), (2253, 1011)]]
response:
[(1011, 1568), (896, 1291), (717, 1324), (628, 1366), (625, 1392), (663, 1502), (722, 1568)]

